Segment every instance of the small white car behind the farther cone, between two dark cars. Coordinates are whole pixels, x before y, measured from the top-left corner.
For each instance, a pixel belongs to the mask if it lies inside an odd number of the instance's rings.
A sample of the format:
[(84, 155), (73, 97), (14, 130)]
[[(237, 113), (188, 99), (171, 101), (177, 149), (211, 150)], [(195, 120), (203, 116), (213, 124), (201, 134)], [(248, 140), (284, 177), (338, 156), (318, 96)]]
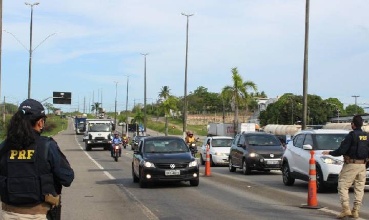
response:
[(207, 154), (207, 144), (209, 144), (210, 149), (210, 165), (215, 164), (228, 164), (229, 163), (229, 153), (231, 150), (233, 138), (226, 136), (215, 136), (208, 137), (201, 147), (200, 161), (201, 164), (205, 164), (206, 154)]

